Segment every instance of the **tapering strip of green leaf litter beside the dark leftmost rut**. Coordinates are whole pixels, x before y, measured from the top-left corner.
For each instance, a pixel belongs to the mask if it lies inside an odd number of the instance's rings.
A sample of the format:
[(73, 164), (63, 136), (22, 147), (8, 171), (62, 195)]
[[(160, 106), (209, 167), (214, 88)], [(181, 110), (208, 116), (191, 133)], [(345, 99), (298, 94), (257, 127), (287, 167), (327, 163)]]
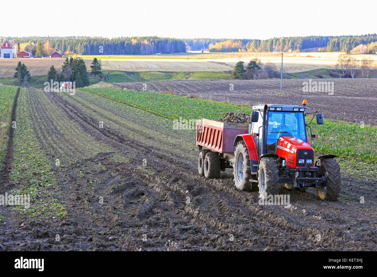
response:
[[(35, 136), (26, 89), (21, 89), (17, 103), (17, 128), (14, 132), (13, 161), (9, 180), (15, 187), (12, 194), (29, 194), (31, 207), (14, 206), (31, 216), (63, 216), (65, 207), (54, 196), (57, 180), (51, 161)], [(48, 215), (49, 214), (49, 215)]]

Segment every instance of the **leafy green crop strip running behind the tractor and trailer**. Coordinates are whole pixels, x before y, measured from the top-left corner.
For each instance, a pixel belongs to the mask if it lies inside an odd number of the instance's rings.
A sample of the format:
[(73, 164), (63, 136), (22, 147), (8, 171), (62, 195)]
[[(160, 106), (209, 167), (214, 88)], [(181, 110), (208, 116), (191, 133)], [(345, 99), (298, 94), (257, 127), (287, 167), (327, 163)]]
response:
[[(239, 107), (227, 103), (198, 98), (154, 92), (139, 92), (116, 89), (83, 89), (117, 101), (139, 107), (168, 118), (208, 118), (217, 120), (225, 112), (251, 113), (250, 107)], [(377, 162), (377, 128), (342, 121), (325, 120), (325, 124), (311, 124), (317, 153), (335, 154), (369, 162)]]

